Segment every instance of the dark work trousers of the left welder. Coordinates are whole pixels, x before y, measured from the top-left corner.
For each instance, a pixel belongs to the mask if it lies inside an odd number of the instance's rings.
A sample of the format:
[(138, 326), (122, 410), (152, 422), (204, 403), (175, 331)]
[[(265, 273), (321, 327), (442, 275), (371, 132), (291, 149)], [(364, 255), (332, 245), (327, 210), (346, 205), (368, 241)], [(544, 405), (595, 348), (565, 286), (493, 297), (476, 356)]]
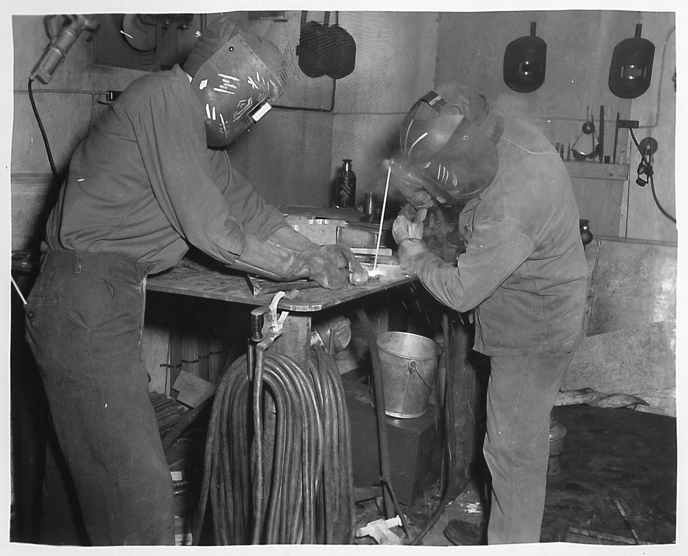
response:
[(94, 545), (175, 539), (141, 356), (145, 278), (122, 258), (50, 251), (25, 305), (26, 338)]

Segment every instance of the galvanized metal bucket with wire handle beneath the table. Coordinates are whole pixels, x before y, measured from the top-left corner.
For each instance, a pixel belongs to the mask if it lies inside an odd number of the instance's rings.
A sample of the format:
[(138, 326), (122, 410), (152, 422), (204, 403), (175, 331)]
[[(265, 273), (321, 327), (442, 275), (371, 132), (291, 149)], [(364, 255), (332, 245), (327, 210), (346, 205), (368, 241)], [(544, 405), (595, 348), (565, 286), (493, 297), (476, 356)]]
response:
[[(420, 417), (427, 409), (442, 347), (409, 332), (382, 332), (376, 343), (385, 384), (385, 413), (402, 419)], [(375, 406), (372, 393), (370, 403)]]

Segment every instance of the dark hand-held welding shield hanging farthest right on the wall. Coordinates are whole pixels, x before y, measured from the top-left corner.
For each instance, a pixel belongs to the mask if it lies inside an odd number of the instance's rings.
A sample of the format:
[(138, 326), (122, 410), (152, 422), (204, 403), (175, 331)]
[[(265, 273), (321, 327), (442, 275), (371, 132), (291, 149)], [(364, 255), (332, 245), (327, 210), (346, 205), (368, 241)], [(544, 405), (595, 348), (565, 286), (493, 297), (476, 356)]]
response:
[(649, 88), (652, 79), (654, 44), (641, 38), (643, 25), (636, 25), (636, 36), (614, 47), (609, 68), (609, 88), (621, 99), (636, 99)]

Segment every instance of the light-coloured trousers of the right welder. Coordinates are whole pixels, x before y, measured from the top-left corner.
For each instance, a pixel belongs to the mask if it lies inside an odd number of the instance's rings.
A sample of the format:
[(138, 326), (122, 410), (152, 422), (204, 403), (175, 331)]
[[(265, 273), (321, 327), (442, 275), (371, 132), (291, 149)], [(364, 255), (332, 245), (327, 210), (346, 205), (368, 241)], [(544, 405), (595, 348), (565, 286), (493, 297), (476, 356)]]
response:
[(492, 475), (488, 544), (540, 542), (550, 411), (575, 348), (492, 356), (483, 452)]

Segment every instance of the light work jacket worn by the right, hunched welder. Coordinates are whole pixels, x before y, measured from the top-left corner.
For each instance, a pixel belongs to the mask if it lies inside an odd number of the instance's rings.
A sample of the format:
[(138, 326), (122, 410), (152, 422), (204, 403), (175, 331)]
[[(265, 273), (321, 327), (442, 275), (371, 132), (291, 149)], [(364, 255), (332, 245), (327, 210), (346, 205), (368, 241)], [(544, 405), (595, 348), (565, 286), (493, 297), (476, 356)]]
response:
[(567, 350), (581, 329), (587, 279), (570, 178), (535, 127), (503, 126), (497, 177), (459, 217), (469, 241), (457, 267), (424, 253), (411, 269), (445, 305), (475, 309), (477, 351)]

